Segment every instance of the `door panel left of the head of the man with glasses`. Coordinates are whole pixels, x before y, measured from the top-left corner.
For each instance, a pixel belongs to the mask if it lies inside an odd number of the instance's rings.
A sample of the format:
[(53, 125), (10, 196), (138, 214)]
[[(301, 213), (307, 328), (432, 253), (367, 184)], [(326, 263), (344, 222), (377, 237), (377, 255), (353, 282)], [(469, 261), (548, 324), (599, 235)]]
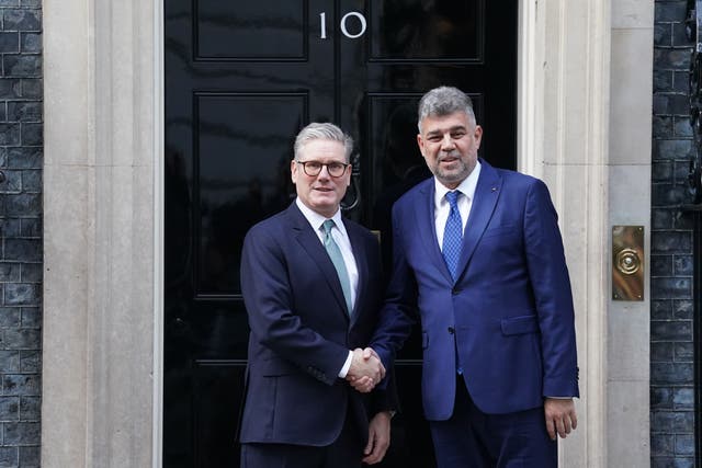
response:
[(195, 296), (236, 300), (248, 228), (290, 201), (287, 172), (307, 94), (196, 92), (193, 118)]

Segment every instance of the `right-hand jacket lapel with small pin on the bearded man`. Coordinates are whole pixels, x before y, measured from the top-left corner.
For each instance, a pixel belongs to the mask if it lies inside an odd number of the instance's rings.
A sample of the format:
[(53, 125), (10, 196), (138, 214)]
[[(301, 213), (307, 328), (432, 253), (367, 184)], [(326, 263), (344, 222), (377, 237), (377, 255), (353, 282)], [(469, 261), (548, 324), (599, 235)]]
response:
[(461, 276), (466, 269), (480, 237), (483, 237), (483, 232), (485, 232), (492, 217), (502, 187), (502, 179), (497, 171), (483, 160), (480, 160), (480, 176), (475, 187), (475, 196), (463, 237), (463, 248), (461, 249), (461, 259), (458, 261), (458, 276)]

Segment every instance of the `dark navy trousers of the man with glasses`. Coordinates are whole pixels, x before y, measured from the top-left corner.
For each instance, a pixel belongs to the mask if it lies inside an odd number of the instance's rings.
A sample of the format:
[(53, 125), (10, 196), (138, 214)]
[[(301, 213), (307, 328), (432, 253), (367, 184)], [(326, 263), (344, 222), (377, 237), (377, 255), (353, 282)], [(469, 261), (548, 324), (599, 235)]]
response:
[(360, 468), (363, 441), (347, 415), (339, 437), (324, 447), (241, 444), (241, 468)]

